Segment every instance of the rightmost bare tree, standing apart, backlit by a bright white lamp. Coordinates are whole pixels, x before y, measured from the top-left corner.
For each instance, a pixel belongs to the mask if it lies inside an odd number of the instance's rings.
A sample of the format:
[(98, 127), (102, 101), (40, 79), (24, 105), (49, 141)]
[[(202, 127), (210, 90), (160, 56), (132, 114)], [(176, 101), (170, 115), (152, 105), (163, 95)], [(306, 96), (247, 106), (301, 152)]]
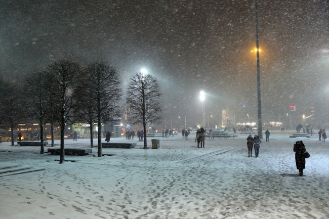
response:
[[(151, 74), (136, 72), (127, 86), (126, 106), (129, 112), (128, 120), (132, 124), (143, 124), (144, 149), (147, 149), (146, 124), (161, 122), (161, 92), (157, 79)], [(149, 127), (148, 127), (149, 128)]]

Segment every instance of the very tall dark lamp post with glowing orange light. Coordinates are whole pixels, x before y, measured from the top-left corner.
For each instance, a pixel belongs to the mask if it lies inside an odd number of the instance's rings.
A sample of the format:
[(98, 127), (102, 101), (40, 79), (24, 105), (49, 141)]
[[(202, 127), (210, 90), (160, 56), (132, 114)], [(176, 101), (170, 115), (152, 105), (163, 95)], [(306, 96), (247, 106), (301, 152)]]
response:
[(257, 49), (257, 114), (258, 114), (258, 128), (257, 134), (260, 139), (263, 139), (262, 133), (262, 106), (261, 106), (261, 73), (259, 66), (259, 42), (258, 42), (258, 3), (255, 1), (255, 14), (256, 14), (256, 49)]

